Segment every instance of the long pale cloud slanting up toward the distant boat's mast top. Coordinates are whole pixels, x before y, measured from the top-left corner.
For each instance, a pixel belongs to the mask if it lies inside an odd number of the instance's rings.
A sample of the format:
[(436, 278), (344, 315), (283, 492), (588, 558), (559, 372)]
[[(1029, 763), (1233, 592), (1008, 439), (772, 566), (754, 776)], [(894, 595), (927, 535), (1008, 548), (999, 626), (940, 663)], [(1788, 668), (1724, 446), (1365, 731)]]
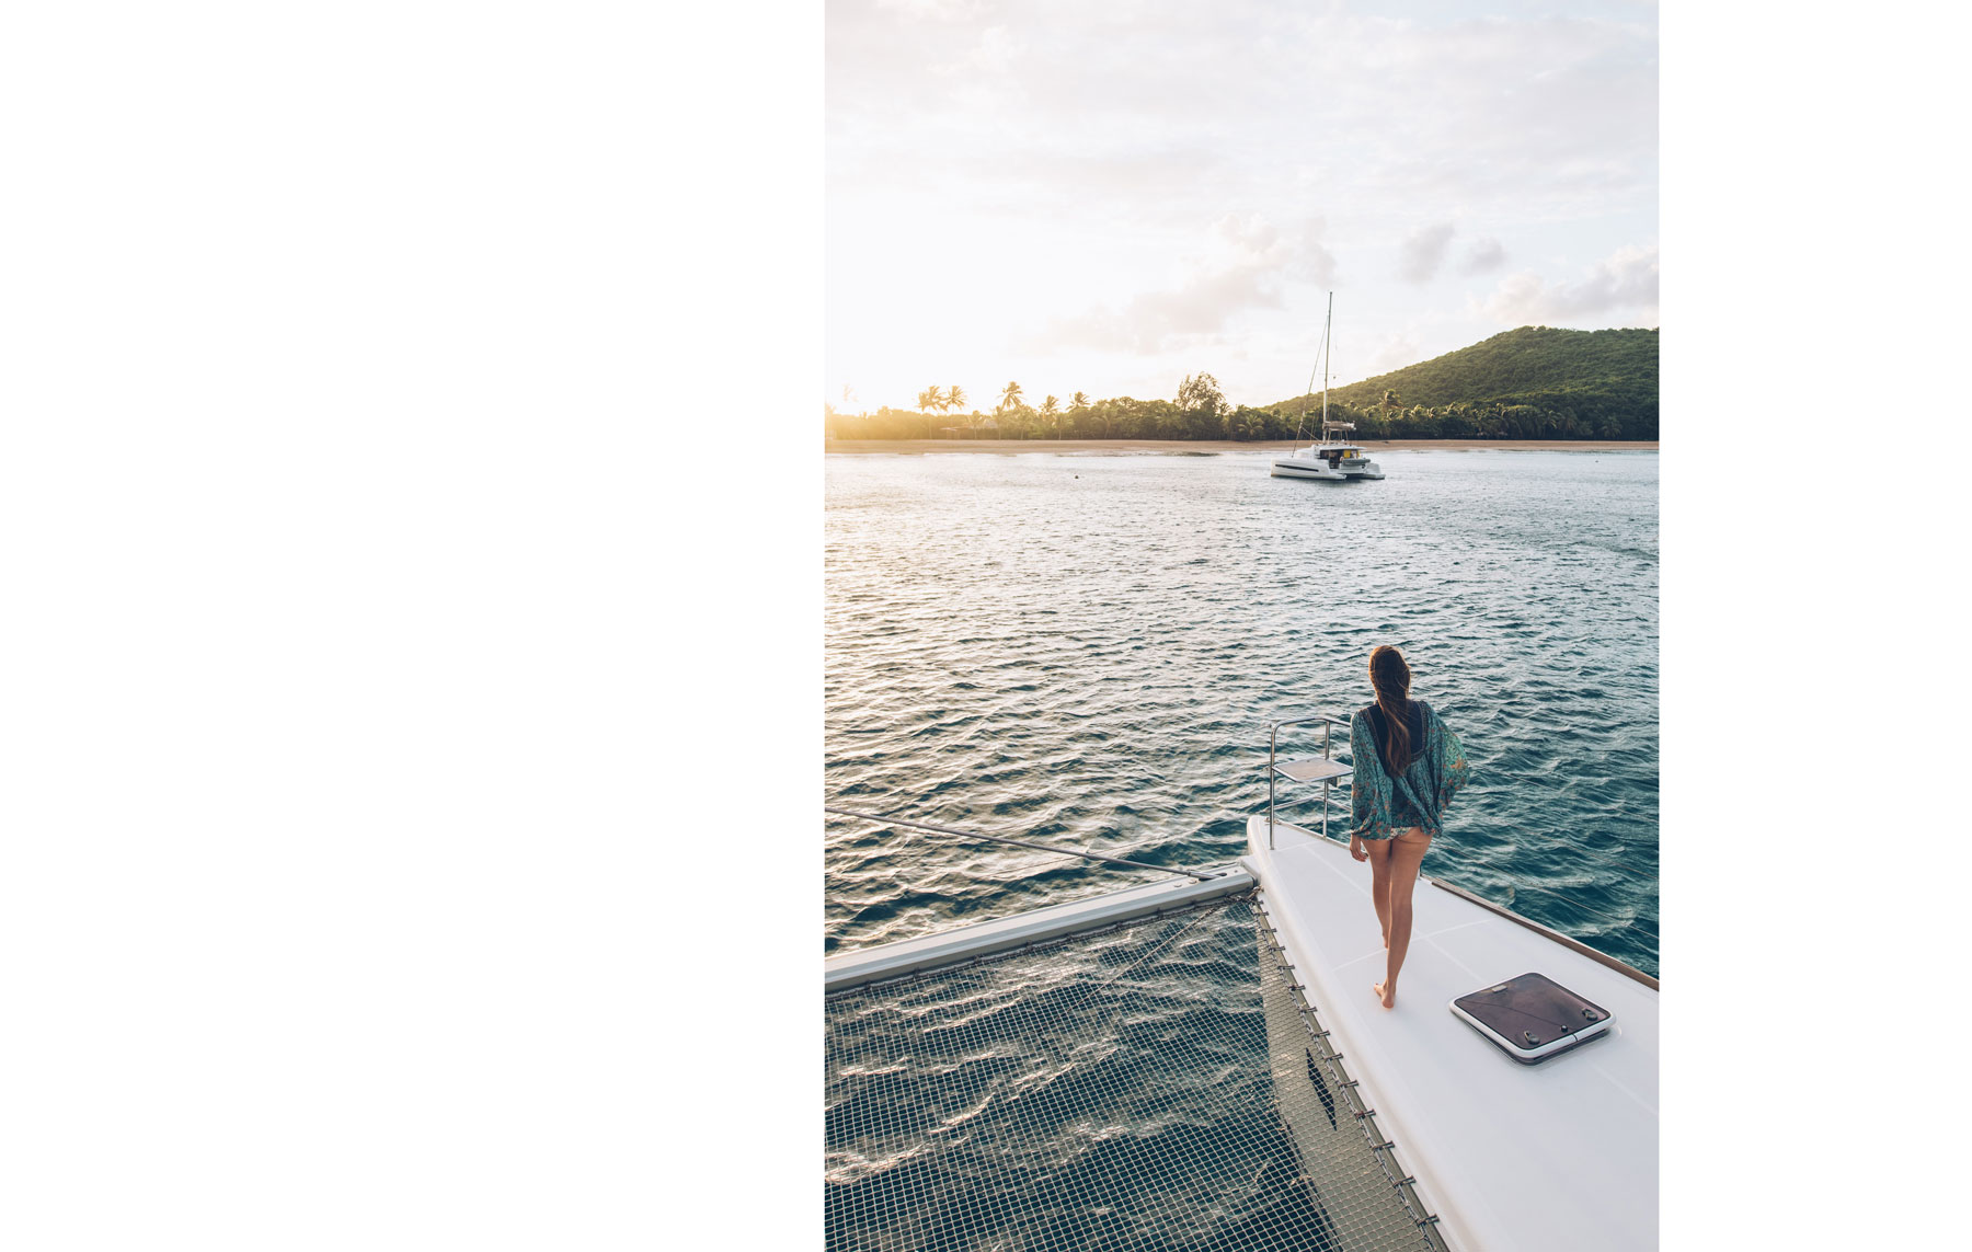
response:
[(1319, 219), (1290, 237), (1260, 215), (1227, 213), (1213, 223), (1205, 252), (1185, 264), (1175, 286), (1138, 292), (1122, 308), (1055, 317), (1025, 347), (1154, 355), (1217, 335), (1234, 313), (1282, 308), (1288, 278), (1331, 284), (1335, 256), (1321, 244), (1321, 233)]

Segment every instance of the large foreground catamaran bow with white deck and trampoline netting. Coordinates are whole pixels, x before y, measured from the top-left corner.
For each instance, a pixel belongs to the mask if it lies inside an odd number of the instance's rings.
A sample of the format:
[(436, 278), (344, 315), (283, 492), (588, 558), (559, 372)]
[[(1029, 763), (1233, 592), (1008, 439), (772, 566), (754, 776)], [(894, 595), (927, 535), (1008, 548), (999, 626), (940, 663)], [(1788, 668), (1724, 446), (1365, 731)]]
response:
[(1234, 864), (826, 960), (830, 1248), (1656, 1248), (1656, 978), (1422, 877), (1384, 1009), (1337, 726)]

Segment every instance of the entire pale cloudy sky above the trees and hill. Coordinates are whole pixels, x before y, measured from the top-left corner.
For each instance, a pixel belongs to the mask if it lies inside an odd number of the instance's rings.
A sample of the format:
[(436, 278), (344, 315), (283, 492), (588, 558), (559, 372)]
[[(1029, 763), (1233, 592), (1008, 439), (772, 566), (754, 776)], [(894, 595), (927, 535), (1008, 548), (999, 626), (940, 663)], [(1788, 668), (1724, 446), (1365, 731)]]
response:
[[(1656, 6), (828, 0), (826, 402), (1656, 325)], [(1315, 379), (1319, 386), (1319, 379)]]

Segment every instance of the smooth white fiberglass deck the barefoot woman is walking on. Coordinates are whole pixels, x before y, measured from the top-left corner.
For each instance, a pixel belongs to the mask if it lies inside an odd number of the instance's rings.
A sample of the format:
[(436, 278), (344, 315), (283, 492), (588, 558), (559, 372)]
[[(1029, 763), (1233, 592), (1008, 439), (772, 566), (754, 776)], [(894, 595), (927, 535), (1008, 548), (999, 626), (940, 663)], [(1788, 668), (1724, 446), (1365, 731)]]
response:
[[(1459, 1252), (1656, 1248), (1656, 990), (1420, 881), (1398, 1002), (1369, 866), (1345, 844), (1246, 824), (1248, 868), (1307, 1000)], [(1538, 970), (1615, 1015), (1609, 1037), (1518, 1065), (1455, 996)]]

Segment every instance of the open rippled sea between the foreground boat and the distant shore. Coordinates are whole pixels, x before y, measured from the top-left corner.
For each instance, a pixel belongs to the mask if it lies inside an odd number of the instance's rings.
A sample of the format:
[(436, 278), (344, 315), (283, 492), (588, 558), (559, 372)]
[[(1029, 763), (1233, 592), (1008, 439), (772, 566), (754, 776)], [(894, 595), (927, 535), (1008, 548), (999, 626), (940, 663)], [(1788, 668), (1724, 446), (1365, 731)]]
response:
[[(828, 802), (1227, 862), (1268, 722), (1347, 718), (1394, 643), (1473, 765), (1426, 873), (1656, 974), (1656, 453), (1376, 459), (830, 455)], [(1163, 877), (850, 818), (824, 846), (830, 952)]]

